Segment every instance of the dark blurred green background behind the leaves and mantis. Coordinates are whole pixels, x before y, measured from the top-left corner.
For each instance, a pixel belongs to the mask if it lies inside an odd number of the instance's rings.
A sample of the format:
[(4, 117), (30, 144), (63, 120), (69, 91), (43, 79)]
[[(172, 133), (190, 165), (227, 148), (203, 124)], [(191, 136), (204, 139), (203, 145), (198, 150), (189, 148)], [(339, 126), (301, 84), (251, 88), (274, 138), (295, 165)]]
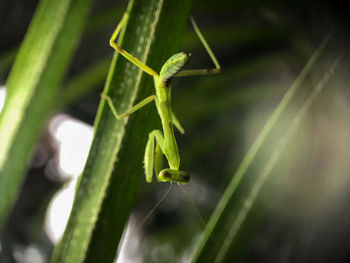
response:
[[(0, 2), (1, 86), (37, 2)], [(67, 89), (76, 93), (57, 101), (52, 118), (64, 113), (59, 120), (71, 116), (93, 124), (113, 54), (108, 39), (126, 4), (109, 0), (94, 4), (60, 88), (63, 98)], [(205, 221), (268, 117), (316, 48), (330, 36), (237, 189), (236, 205), (249, 211), (223, 261), (349, 262), (349, 20), (345, 8), (331, 1), (198, 0), (192, 14), (222, 65), (219, 75), (173, 82), (174, 111), (186, 130), (183, 136), (176, 134), (181, 166), (191, 175), (184, 188)], [(212, 67), (190, 24), (182, 43), (182, 50), (192, 53), (189, 68)], [(332, 73), (330, 80), (278, 153), (271, 173), (260, 188), (254, 188), (298, 110), (328, 73)], [(20, 196), (0, 236), (0, 262), (47, 262), (52, 253), (55, 241), (47, 232), (48, 207), (55, 194), (76, 180), (60, 167), (64, 157), (60, 155), (63, 141), (58, 142), (55, 130), (59, 120), (48, 122), (33, 151)], [(89, 137), (91, 130), (87, 133), (81, 137)], [(79, 140), (79, 135), (75, 138)], [(80, 152), (84, 158), (86, 149)], [(118, 262), (188, 262), (204, 226), (180, 188), (174, 186), (140, 226), (167, 189), (168, 184), (142, 180)], [(72, 200), (66, 202), (69, 210)], [(215, 236), (212, 239), (215, 246)]]

